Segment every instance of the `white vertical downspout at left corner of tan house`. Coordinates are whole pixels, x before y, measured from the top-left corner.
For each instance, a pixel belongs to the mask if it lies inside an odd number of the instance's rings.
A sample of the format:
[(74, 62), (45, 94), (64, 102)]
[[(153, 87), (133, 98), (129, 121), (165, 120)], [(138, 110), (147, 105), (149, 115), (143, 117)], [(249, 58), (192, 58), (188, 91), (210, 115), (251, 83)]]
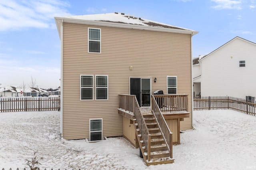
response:
[(60, 133), (63, 143), (63, 20), (60, 24)]

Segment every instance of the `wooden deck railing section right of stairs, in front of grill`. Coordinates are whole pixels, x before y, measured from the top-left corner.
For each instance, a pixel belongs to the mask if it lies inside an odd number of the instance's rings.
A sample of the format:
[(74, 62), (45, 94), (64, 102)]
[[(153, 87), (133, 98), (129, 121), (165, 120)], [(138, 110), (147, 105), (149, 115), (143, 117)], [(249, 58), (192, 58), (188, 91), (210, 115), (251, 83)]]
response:
[(153, 95), (160, 111), (188, 111), (188, 94)]

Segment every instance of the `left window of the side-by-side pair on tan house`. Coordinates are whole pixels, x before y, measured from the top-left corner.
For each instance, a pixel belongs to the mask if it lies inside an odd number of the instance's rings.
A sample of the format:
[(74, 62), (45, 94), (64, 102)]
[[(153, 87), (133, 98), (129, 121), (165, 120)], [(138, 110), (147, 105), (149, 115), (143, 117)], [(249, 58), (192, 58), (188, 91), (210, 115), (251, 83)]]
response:
[(80, 99), (93, 100), (93, 75), (80, 75)]

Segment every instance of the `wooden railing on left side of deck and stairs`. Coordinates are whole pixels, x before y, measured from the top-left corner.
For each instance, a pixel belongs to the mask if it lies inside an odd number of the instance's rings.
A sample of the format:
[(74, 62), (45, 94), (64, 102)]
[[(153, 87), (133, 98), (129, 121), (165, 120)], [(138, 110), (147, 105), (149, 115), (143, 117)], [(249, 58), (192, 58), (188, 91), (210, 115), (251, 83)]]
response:
[[(119, 94), (119, 108), (125, 111), (132, 112), (136, 118), (136, 123), (138, 123), (138, 128), (140, 129), (140, 134), (142, 135), (143, 143), (145, 145), (145, 151), (148, 154), (148, 161), (150, 161), (150, 140), (151, 135), (148, 131), (145, 120), (143, 119), (140, 106), (135, 95), (125, 95)], [(137, 130), (137, 129), (136, 129)], [(140, 141), (141, 142), (141, 141)]]

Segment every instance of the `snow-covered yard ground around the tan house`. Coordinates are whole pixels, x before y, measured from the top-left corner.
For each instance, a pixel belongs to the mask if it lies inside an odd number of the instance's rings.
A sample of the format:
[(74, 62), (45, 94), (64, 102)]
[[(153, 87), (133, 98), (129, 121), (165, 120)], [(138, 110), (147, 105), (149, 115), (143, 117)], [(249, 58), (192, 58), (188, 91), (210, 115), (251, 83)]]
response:
[(256, 117), (232, 110), (194, 111), (195, 130), (180, 135), (174, 164), (146, 166), (122, 137), (98, 143), (61, 143), (60, 112), (0, 113), (0, 169), (28, 168), (38, 150), (40, 168), (205, 170), (256, 169)]

